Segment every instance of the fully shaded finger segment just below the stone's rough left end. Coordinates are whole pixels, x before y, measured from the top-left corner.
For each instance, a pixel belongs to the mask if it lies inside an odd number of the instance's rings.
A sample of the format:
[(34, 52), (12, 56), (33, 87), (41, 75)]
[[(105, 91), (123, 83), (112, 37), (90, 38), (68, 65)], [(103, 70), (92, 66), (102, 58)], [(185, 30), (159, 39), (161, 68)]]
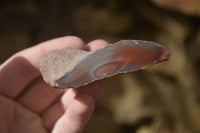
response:
[(64, 92), (64, 89), (52, 88), (42, 78), (39, 78), (16, 101), (32, 112), (40, 114)]

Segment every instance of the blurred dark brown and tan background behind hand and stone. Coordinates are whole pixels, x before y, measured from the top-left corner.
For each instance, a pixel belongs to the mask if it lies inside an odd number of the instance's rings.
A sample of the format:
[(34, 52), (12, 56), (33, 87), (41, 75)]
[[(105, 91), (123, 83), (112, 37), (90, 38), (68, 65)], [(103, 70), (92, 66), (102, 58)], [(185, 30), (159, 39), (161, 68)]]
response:
[(150, 40), (173, 52), (105, 79), (84, 133), (200, 133), (200, 0), (0, 0), (0, 63), (65, 35)]

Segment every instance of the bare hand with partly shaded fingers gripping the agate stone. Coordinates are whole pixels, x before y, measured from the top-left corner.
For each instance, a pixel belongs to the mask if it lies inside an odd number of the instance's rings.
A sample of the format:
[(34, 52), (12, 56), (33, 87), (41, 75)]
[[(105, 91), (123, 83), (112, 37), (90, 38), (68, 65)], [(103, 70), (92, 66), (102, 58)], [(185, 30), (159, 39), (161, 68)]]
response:
[(55, 89), (39, 72), (40, 59), (53, 49), (95, 51), (108, 43), (87, 45), (75, 36), (61, 37), (20, 51), (0, 66), (1, 133), (80, 133), (102, 95), (100, 81), (74, 89)]

